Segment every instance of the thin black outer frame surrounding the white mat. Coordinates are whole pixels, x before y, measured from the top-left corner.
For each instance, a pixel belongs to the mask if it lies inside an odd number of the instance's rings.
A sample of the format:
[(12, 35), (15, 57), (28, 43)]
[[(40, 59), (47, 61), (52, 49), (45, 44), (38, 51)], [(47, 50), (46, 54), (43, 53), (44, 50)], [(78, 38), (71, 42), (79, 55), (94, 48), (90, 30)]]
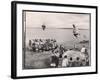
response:
[[(61, 74), (46, 74), (46, 75), (30, 75), (30, 76), (18, 76), (18, 68), (17, 68), (17, 35), (18, 35), (18, 9), (17, 5), (22, 4), (22, 5), (41, 5), (41, 6), (55, 6), (55, 7), (76, 7), (76, 8), (89, 8), (89, 9), (95, 9), (95, 71), (91, 72), (78, 72), (78, 73), (61, 73)], [(33, 11), (39, 11), (39, 10), (33, 10)], [(57, 12), (58, 11), (42, 11), (41, 12)], [(62, 11), (61, 11), (62, 12)], [(64, 12), (62, 12), (64, 13)], [(65, 12), (66, 13), (66, 12)], [(90, 24), (91, 25), (91, 24)], [(11, 2), (11, 78), (13, 79), (20, 79), (20, 78), (37, 78), (37, 77), (53, 77), (53, 76), (67, 76), (67, 75), (85, 75), (85, 74), (97, 74), (98, 72), (98, 40), (97, 40), (97, 30), (98, 30), (98, 7), (97, 6), (88, 6), (88, 5), (72, 5), (72, 4), (57, 4), (57, 3), (41, 3), (41, 2), (24, 2), (24, 1), (12, 1)]]

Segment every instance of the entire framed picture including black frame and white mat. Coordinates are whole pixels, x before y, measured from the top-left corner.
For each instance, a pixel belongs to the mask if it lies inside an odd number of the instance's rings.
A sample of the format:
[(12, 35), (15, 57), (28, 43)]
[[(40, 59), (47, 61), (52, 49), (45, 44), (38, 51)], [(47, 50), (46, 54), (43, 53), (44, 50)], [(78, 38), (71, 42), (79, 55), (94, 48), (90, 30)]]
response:
[(97, 6), (12, 2), (12, 78), (97, 73)]

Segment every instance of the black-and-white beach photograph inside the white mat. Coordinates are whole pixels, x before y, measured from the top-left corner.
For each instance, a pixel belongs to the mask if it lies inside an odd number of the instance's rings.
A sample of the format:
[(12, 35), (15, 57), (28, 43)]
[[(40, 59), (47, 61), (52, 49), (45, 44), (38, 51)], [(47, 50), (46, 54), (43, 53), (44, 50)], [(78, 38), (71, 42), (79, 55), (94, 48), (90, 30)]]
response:
[(23, 11), (23, 69), (90, 66), (90, 17)]

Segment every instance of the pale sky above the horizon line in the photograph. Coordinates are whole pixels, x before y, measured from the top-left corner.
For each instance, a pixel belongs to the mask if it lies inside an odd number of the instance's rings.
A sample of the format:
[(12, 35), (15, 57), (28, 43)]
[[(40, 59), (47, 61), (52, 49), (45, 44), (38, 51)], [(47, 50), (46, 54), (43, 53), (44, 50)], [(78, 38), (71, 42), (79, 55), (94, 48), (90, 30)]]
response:
[(75, 24), (80, 29), (89, 29), (89, 14), (29, 12), (26, 11), (26, 27), (41, 28), (72, 28)]

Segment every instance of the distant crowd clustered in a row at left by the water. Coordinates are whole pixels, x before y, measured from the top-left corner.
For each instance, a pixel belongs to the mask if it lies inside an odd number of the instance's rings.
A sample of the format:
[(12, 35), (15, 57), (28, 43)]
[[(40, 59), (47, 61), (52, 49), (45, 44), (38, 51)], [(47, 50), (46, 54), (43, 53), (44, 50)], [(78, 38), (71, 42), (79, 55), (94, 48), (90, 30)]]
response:
[(33, 39), (29, 40), (29, 49), (33, 52), (50, 51), (57, 48), (57, 41), (55, 39)]

